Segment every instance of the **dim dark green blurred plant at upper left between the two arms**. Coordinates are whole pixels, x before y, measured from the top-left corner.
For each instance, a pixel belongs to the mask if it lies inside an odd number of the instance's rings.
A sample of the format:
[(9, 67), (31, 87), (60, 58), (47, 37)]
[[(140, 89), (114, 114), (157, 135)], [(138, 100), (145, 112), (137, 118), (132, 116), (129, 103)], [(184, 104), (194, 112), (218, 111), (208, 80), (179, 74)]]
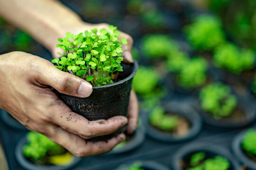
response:
[(18, 31), (14, 37), (15, 48), (19, 51), (27, 50), (32, 42), (32, 38), (23, 31)]

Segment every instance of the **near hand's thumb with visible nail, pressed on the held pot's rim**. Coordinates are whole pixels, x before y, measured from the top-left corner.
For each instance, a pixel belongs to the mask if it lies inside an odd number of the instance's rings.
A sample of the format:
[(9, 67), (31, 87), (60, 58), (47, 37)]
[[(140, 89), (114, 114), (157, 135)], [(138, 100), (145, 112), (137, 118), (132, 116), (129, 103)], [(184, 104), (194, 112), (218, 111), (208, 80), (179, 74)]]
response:
[[(92, 93), (92, 85), (78, 76), (64, 72), (56, 68), (53, 64), (45, 61), (37, 67), (37, 80), (40, 84), (50, 85), (60, 93), (88, 97)], [(46, 69), (47, 68), (47, 69)]]

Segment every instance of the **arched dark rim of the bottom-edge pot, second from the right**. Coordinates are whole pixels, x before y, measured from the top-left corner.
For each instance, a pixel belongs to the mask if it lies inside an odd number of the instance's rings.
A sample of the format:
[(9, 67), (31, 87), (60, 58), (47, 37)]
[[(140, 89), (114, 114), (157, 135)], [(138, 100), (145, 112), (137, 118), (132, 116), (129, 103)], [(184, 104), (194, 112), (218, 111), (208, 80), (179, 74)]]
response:
[(216, 145), (216, 144), (209, 144), (209, 143), (195, 143), (187, 144), (180, 148), (173, 157), (172, 164), (174, 170), (183, 170), (180, 166), (180, 161), (183, 159), (184, 156), (186, 156), (189, 153), (193, 152), (208, 152), (213, 153), (216, 155), (221, 155), (225, 158), (227, 158), (230, 162), (230, 165), (232, 165), (233, 170), (240, 170), (240, 166), (236, 159), (232, 156), (232, 154), (229, 152), (228, 149)]

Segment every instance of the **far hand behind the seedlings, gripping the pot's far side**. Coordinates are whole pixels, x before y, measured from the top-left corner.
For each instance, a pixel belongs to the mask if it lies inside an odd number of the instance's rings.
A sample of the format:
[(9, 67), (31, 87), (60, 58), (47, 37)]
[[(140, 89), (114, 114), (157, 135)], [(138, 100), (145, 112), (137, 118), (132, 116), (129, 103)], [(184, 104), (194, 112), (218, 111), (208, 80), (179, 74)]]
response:
[[(60, 56), (57, 54), (57, 52), (63, 52), (62, 49), (56, 48), (56, 44), (59, 43), (57, 41), (57, 38), (63, 38), (65, 37), (65, 34), (67, 32), (71, 32), (72, 34), (79, 34), (83, 33), (85, 30), (91, 30), (93, 28), (97, 28), (98, 30), (101, 28), (109, 29), (109, 24), (101, 23), (101, 24), (88, 24), (88, 23), (77, 23), (75, 25), (66, 26), (63, 27), (63, 30), (59, 32), (58, 36), (56, 37), (56, 42), (55, 44), (52, 45), (52, 55), (54, 58), (59, 58)], [(122, 57), (124, 58), (124, 62), (132, 63), (132, 54), (131, 54), (131, 49), (133, 45), (133, 39), (130, 35), (125, 34), (121, 32), (119, 35), (119, 39), (126, 38), (127, 39), (127, 44), (124, 44), (122, 46), (122, 49), (124, 50), (122, 53)], [(128, 106), (128, 127), (127, 127), (127, 133), (132, 134), (134, 130), (137, 127), (137, 121), (138, 121), (138, 101), (137, 101), (137, 96), (134, 93), (134, 91), (131, 91), (130, 95), (130, 101), (129, 101), (129, 106)]]

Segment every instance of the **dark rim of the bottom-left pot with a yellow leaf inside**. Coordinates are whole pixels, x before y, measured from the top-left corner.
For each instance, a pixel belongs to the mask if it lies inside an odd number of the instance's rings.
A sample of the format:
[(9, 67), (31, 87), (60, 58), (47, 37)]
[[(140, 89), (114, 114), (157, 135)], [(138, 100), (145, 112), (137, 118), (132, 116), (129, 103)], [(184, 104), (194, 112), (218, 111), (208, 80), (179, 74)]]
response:
[(28, 161), (24, 155), (23, 155), (23, 146), (27, 144), (27, 136), (22, 137), (15, 148), (15, 157), (20, 166), (22, 166), (26, 170), (69, 170), (75, 165), (81, 161), (81, 158), (78, 158), (74, 156), (74, 160), (71, 164), (66, 165), (66, 166), (57, 166), (57, 165), (48, 165), (48, 166), (43, 166), (43, 165), (36, 165), (33, 164), (32, 162)]

